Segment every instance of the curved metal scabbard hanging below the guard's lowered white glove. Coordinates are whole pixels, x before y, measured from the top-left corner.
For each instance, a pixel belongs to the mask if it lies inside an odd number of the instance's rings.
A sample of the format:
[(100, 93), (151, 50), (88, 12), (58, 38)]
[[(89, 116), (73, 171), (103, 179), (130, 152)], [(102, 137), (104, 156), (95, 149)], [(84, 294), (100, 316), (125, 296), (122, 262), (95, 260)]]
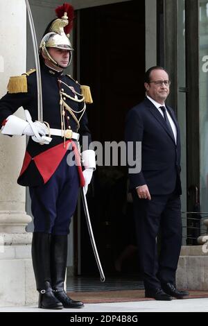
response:
[(90, 221), (90, 218), (89, 218), (89, 211), (88, 211), (88, 207), (87, 207), (87, 199), (86, 199), (86, 196), (85, 196), (84, 188), (81, 188), (81, 195), (82, 195), (82, 198), (83, 198), (83, 207), (84, 207), (84, 211), (85, 211), (85, 217), (86, 217), (86, 221), (87, 221), (87, 228), (88, 228), (88, 231), (89, 231), (90, 241), (92, 243), (92, 248), (93, 248), (93, 251), (94, 251), (94, 257), (96, 259), (98, 270), (99, 270), (100, 275), (101, 275), (101, 282), (105, 282), (105, 275), (103, 273), (103, 268), (101, 266), (101, 261), (100, 261), (99, 255), (98, 255), (98, 250), (96, 248), (96, 243), (94, 241), (94, 234), (93, 234), (93, 231), (92, 231), (92, 225), (91, 225), (91, 221)]

